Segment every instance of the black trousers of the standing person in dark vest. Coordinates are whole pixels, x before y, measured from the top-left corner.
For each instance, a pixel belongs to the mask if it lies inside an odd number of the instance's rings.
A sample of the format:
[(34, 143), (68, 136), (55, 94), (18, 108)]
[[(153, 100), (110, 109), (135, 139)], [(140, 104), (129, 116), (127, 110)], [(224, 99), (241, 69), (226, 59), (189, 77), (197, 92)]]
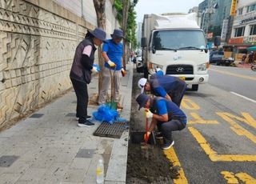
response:
[(70, 78), (74, 87), (74, 92), (77, 96), (77, 118), (79, 122), (86, 122), (87, 106), (88, 106), (88, 91), (87, 84)]

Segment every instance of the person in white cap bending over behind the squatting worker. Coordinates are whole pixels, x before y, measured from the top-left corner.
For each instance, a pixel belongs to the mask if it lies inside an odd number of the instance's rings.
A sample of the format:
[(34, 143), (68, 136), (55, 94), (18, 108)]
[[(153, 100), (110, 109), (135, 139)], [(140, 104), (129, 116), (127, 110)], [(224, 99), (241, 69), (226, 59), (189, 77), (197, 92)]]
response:
[(171, 100), (177, 106), (180, 106), (186, 91), (186, 82), (173, 76), (154, 74), (151, 75), (150, 80), (140, 78), (138, 87), (141, 89), (141, 93), (144, 93), (144, 91), (150, 92), (155, 96)]

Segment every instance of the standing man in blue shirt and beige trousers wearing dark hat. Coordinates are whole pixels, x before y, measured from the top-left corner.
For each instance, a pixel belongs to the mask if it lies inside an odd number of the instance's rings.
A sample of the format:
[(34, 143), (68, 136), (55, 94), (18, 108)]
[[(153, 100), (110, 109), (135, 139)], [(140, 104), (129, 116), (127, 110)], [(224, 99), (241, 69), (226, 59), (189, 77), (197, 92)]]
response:
[[(98, 95), (98, 105), (106, 102), (106, 94), (110, 86), (111, 76), (114, 76), (114, 102), (118, 102), (122, 73), (125, 74), (122, 61), (122, 30), (115, 29), (113, 34), (111, 34), (111, 38), (103, 44), (102, 48), (105, 65), (103, 68), (102, 88)], [(117, 108), (122, 109), (119, 102)]]

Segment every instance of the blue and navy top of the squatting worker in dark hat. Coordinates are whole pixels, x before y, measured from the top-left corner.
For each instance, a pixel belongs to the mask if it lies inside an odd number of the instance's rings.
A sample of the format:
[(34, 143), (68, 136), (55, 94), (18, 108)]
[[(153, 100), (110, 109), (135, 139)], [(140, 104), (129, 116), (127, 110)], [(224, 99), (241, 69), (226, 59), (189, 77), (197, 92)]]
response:
[(183, 123), (186, 124), (186, 114), (184, 114), (183, 111), (174, 102), (171, 102), (166, 98), (154, 98), (154, 100), (155, 103), (152, 105), (154, 106), (153, 113), (158, 115), (168, 114), (170, 119), (180, 119)]

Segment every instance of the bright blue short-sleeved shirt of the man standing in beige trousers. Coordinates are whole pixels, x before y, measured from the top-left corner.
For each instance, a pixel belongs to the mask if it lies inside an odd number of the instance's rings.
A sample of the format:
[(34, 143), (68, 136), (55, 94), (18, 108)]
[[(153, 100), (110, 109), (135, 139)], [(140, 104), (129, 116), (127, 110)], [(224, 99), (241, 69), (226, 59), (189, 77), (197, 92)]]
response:
[[(114, 62), (116, 64), (116, 70), (122, 69), (122, 43), (121, 42), (116, 44), (112, 39), (109, 39), (106, 41), (106, 43), (103, 44), (102, 51), (106, 52), (111, 62)], [(106, 62), (104, 66), (107, 68), (110, 68), (109, 64), (107, 64)]]

